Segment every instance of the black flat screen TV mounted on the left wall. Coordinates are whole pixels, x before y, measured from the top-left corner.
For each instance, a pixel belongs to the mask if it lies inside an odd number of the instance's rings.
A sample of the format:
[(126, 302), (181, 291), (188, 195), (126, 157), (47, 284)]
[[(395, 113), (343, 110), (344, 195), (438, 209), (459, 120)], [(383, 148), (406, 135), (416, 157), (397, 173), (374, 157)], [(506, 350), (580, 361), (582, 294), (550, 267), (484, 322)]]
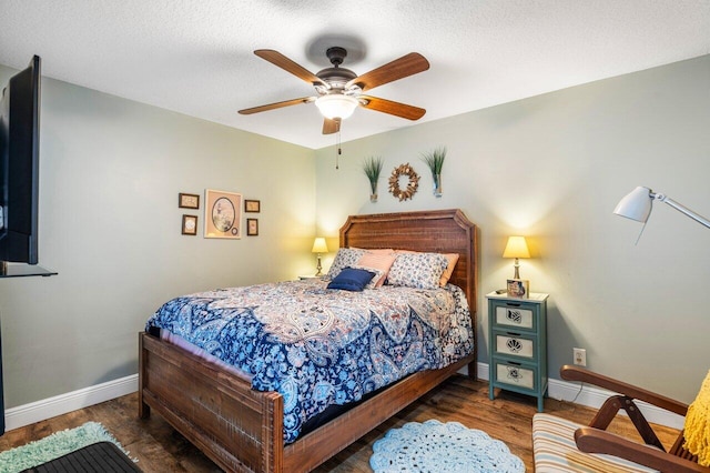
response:
[(38, 263), (40, 63), (10, 78), (0, 107), (0, 262)]

